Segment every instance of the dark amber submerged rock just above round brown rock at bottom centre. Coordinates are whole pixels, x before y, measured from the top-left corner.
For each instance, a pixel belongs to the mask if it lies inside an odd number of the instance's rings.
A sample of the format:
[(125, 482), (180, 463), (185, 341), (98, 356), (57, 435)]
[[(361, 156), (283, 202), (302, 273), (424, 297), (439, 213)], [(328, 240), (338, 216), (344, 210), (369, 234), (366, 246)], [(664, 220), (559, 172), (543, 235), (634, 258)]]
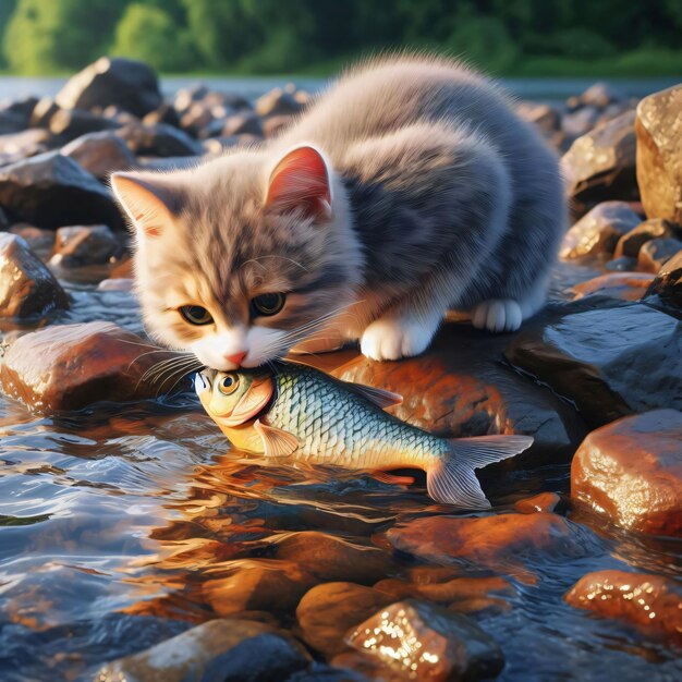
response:
[(287, 535), (276, 547), (278, 559), (295, 563), (320, 582), (369, 584), (392, 568), (390, 558), (376, 547), (354, 545), (317, 531)]

